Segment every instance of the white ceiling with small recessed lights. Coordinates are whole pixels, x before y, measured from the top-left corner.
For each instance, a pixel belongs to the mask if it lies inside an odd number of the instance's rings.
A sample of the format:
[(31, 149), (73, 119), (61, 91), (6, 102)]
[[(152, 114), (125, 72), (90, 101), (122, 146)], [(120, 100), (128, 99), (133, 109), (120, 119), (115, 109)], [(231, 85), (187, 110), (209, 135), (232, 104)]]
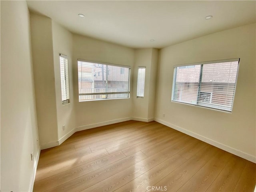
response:
[[(163, 48), (256, 21), (256, 1), (27, 1), (76, 34), (131, 48)], [(78, 14), (84, 14), (80, 18)], [(213, 18), (206, 20), (205, 16)], [(154, 42), (150, 40), (154, 39)]]

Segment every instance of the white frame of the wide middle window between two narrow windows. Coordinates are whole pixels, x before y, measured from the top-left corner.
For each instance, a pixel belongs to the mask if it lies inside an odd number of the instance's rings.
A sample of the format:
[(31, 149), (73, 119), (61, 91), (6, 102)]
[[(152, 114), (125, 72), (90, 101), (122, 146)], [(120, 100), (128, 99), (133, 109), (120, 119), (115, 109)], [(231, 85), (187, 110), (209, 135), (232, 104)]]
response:
[[(128, 75), (128, 91), (127, 92), (100, 92), (100, 93), (79, 93), (78, 90), (78, 97), (82, 95), (106, 95), (106, 98), (100, 98), (100, 99), (88, 99), (88, 100), (79, 100), (79, 102), (86, 102), (86, 101), (96, 101), (96, 100), (110, 100), (110, 99), (125, 99), (125, 98), (130, 98), (130, 76), (131, 76), (131, 67), (130, 66), (125, 66), (125, 65), (118, 65), (118, 64), (112, 64), (112, 63), (106, 63), (106, 62), (96, 62), (96, 61), (90, 61), (90, 60), (84, 60), (84, 59), (78, 59), (78, 62), (88, 62), (92, 64), (102, 64), (106, 66), (117, 66), (121, 68), (128, 68), (129, 69), (129, 75)], [(108, 70), (106, 72), (106, 81), (108, 81)], [(121, 72), (120, 72), (121, 74)], [(108, 95), (111, 94), (128, 94), (128, 97), (120, 97), (120, 98), (108, 98)]]

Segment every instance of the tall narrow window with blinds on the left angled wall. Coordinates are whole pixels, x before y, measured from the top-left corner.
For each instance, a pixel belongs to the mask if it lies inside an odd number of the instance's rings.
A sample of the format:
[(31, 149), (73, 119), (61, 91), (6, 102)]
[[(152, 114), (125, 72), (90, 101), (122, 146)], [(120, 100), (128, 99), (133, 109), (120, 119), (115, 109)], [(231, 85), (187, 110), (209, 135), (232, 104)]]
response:
[(60, 82), (62, 104), (69, 103), (68, 57), (60, 54)]

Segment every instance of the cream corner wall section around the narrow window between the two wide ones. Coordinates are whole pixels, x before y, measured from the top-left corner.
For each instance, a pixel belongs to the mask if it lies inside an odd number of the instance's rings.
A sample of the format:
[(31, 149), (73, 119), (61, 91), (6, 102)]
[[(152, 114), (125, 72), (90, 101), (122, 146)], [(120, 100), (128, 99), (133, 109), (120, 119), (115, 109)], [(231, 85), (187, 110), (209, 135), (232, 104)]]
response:
[[(136, 49), (133, 73), (133, 113), (135, 120), (151, 121), (154, 118), (154, 102), (156, 89), (156, 74), (158, 63), (158, 50), (153, 48)], [(146, 67), (144, 98), (137, 98), (138, 67)]]

